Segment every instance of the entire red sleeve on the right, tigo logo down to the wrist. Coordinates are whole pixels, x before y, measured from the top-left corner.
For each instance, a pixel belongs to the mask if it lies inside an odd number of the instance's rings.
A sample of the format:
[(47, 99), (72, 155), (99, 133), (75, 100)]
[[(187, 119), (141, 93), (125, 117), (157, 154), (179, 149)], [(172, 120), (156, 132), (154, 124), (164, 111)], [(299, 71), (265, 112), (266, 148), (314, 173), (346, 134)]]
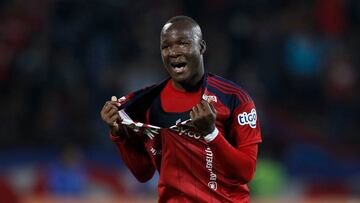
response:
[(221, 160), (223, 176), (246, 184), (255, 173), (261, 142), (259, 119), (251, 100), (235, 108), (230, 129), (227, 135), (219, 132), (209, 145), (215, 158)]

